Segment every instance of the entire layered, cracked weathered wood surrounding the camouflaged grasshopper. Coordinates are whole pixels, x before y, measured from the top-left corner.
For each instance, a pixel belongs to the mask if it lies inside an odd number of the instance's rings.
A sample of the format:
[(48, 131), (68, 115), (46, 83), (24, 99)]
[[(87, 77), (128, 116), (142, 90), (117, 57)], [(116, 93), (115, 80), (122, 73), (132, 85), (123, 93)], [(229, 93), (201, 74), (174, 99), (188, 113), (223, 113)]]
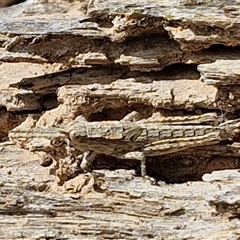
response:
[(100, 154), (83, 173), (67, 141), (19, 135), (133, 111), (238, 119), (239, 12), (220, 0), (0, 1), (0, 238), (239, 239), (238, 171), (205, 174), (240, 167), (239, 129), (147, 157), (155, 185), (134, 159)]

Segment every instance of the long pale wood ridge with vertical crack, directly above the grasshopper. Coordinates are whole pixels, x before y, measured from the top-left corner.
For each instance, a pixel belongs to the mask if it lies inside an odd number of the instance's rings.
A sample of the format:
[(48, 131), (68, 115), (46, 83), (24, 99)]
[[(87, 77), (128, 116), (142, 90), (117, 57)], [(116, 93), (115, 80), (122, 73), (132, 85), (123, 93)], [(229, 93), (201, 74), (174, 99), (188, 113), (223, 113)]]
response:
[[(199, 95), (199, 91), (203, 94)], [(217, 107), (216, 94), (216, 88), (194, 80), (141, 83), (135, 79), (120, 79), (109, 85), (64, 86), (58, 90), (58, 99), (72, 108), (81, 106), (85, 114), (101, 111), (104, 107), (116, 108), (139, 102), (154, 108), (214, 109)]]

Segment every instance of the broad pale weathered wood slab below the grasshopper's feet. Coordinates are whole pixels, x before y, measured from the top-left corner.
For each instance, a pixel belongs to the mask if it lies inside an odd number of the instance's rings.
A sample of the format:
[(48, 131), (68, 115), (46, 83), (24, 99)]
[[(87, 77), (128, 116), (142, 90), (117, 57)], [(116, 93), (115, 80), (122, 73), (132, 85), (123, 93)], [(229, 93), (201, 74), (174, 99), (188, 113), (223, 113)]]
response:
[(216, 184), (152, 186), (132, 171), (118, 170), (56, 186), (37, 156), (13, 146), (5, 146), (0, 156), (0, 224), (8, 229), (1, 232), (3, 239), (217, 239), (209, 236), (238, 233), (234, 222), (213, 217), (202, 197), (215, 192)]

